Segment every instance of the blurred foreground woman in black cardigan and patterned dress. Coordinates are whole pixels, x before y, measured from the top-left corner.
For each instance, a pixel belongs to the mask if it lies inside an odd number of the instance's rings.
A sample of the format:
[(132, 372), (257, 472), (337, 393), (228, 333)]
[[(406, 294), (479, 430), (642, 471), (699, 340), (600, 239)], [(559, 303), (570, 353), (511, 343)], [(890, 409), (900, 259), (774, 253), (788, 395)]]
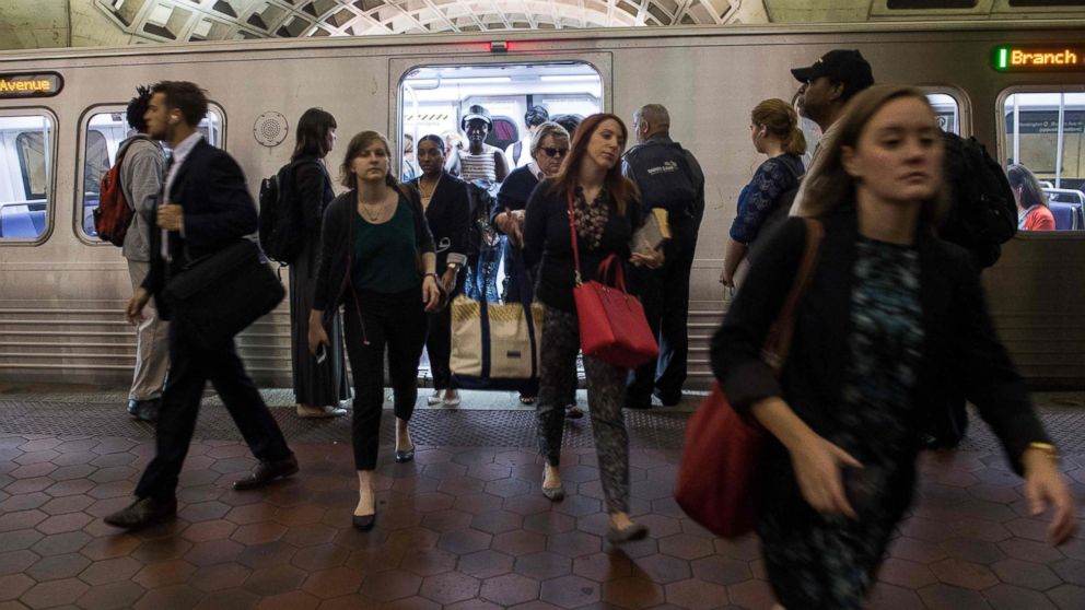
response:
[(960, 386), (1025, 476), (1051, 541), (1076, 524), (1057, 454), (999, 343), (968, 253), (934, 236), (942, 139), (922, 92), (850, 103), (807, 201), (825, 237), (779, 378), (760, 359), (807, 238), (792, 219), (754, 261), (712, 343), (731, 404), (771, 442), (757, 530), (788, 608), (859, 609), (912, 498), (920, 436)]

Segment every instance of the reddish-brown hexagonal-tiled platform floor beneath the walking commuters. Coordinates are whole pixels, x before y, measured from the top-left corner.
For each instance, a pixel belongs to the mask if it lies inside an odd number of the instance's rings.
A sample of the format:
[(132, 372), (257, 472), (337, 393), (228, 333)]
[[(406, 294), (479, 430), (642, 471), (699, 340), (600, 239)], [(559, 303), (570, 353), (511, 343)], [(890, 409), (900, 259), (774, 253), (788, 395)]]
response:
[[(153, 429), (129, 420), (122, 398), (0, 385), (0, 610), (771, 606), (756, 540), (716, 539), (670, 497), (696, 397), (677, 409), (627, 412), (632, 514), (652, 533), (621, 550), (603, 539), (588, 420), (569, 423), (570, 495), (551, 504), (538, 492), (532, 411), (511, 395), (470, 394), (475, 409), (420, 409), (416, 460), (397, 465), (392, 447), (382, 448), (369, 533), (350, 528), (357, 494), (346, 420), (299, 421), (292, 409), (273, 409), (302, 471), (238, 493), (230, 483), (254, 461), (209, 398), (182, 476), (179, 518), (118, 532), (102, 516), (130, 501), (153, 450)], [(1082, 395), (1039, 398), (1085, 497)], [(388, 442), (390, 422), (388, 412)], [(1019, 480), (985, 427), (972, 430), (960, 450), (923, 457), (919, 501), (872, 607), (1085, 608), (1085, 533), (1047, 546), (1046, 523), (1027, 515)]]

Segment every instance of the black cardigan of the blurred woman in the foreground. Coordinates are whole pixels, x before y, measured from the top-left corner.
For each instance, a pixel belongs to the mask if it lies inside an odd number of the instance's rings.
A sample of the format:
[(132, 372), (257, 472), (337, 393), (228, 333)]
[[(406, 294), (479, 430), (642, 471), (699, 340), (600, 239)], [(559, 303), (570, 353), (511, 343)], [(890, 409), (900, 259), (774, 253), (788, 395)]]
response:
[[(748, 415), (762, 398), (782, 396), (819, 434), (828, 425), (828, 413), (841, 403), (859, 235), (853, 210), (831, 214), (822, 224), (825, 238), (797, 307), (791, 353), (780, 379), (759, 353), (802, 258), (806, 230), (801, 219), (789, 219), (767, 236), (761, 256), (712, 339), (712, 369), (739, 413)], [(979, 272), (966, 250), (925, 232), (918, 236), (917, 247), (924, 330), (912, 394), (920, 418), (917, 430), (944, 421), (946, 398), (955, 394), (950, 388), (959, 387), (958, 395), (979, 408), (1019, 473), (1028, 444), (1049, 441), (1024, 382), (995, 336)]]

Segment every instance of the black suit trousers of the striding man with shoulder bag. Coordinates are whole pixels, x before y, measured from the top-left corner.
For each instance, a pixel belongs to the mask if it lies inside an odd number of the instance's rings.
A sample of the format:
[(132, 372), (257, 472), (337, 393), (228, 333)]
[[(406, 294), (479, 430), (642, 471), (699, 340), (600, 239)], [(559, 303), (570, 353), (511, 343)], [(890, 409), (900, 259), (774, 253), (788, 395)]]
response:
[(219, 392), (253, 455), (261, 461), (290, 456), (290, 447), (256, 385), (245, 373), (233, 338), (213, 349), (201, 348), (182, 319), (170, 324), (170, 376), (162, 391), (155, 430), (154, 459), (136, 486), (138, 497), (168, 501), (192, 442), (200, 398), (208, 380)]

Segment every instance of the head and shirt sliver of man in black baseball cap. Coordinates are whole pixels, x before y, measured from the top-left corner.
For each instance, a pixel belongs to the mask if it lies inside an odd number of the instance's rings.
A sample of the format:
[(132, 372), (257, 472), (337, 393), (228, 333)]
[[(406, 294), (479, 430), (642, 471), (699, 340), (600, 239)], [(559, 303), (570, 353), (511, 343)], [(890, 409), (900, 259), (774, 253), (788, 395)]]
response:
[[(833, 126), (843, 113), (844, 106), (856, 93), (874, 84), (871, 64), (858, 50), (833, 49), (822, 55), (808, 68), (794, 68), (791, 73), (803, 83), (798, 87), (797, 105), (802, 115), (821, 128), (821, 140), (814, 150), (814, 157), (807, 176), (817, 175), (820, 171), (819, 154), (822, 149), (831, 148), (836, 138)], [(803, 197), (808, 179), (803, 180), (795, 201), (791, 207), (792, 214), (802, 211)]]

